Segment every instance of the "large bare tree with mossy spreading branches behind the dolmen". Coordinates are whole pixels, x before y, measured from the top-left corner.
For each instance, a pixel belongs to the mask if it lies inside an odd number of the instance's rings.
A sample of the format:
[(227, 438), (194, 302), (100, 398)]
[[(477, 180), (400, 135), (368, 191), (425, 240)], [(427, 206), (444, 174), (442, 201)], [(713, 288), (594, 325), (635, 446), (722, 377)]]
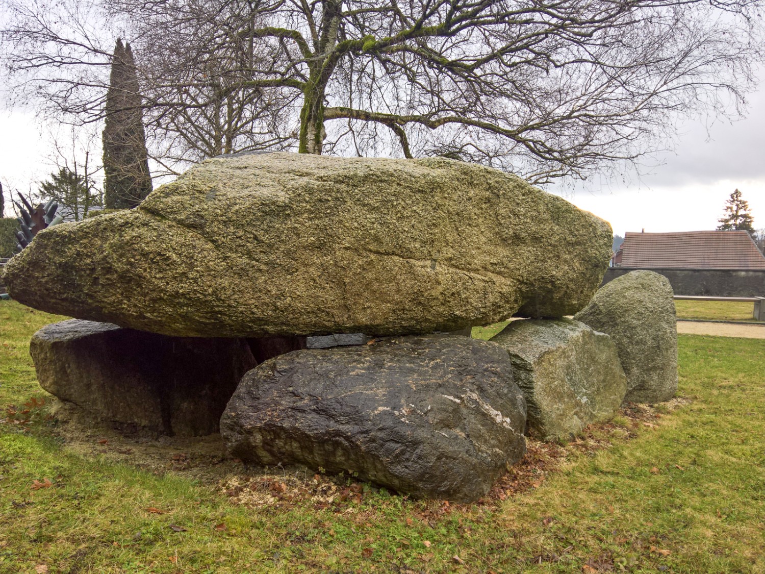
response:
[[(296, 147), (583, 178), (664, 145), (678, 115), (735, 116), (762, 56), (761, 0), (104, 2), (175, 159)], [(15, 5), (10, 69), (99, 119), (109, 54), (50, 9)]]

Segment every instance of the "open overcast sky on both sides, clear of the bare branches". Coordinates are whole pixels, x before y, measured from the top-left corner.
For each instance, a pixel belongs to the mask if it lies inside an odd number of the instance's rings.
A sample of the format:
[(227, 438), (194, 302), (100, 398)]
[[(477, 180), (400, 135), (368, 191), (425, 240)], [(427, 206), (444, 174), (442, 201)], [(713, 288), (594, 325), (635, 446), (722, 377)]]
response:
[[(662, 165), (640, 180), (625, 170), (623, 177), (596, 179), (575, 191), (547, 189), (608, 220), (614, 233), (623, 235), (643, 229), (713, 230), (725, 200), (738, 188), (755, 227), (765, 228), (765, 92), (752, 94), (749, 103), (747, 119), (708, 129), (702, 122), (683, 126), (675, 151), (660, 156)], [(54, 171), (47, 131), (41, 133), (31, 113), (0, 111), (0, 181), (6, 187), (34, 189)], [(66, 134), (60, 139), (66, 141)]]

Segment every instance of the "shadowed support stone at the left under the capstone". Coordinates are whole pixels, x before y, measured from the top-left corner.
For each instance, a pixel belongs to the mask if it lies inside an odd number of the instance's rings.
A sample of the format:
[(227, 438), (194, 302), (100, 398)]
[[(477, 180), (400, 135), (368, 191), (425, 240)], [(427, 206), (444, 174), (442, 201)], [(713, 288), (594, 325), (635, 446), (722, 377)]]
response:
[(204, 339), (72, 319), (34, 334), (49, 393), (99, 418), (168, 435), (207, 435), (256, 360), (243, 339)]

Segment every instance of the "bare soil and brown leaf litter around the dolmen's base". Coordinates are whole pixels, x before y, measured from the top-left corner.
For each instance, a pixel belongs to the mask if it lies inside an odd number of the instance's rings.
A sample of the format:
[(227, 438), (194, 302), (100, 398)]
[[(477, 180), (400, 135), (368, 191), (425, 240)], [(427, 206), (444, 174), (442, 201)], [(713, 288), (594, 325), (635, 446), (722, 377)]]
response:
[[(507, 497), (539, 488), (549, 475), (581, 454), (594, 456), (616, 441), (634, 438), (640, 430), (655, 429), (665, 413), (690, 402), (685, 397), (675, 397), (662, 403), (659, 409), (627, 403), (620, 409), (618, 424), (590, 425), (581, 436), (565, 444), (527, 439), (526, 456), (510, 467), (478, 504), (496, 506)], [(171, 472), (193, 478), (220, 490), (233, 504), (275, 508), (312, 504), (317, 510), (329, 508), (363, 514), (356, 504), (366, 495), (379, 491), (375, 485), (349, 475), (327, 476), (304, 467), (243, 465), (226, 453), (220, 435), (188, 438), (125, 433), (125, 429), (111, 428), (66, 405), (58, 406), (54, 414), (60, 422), (58, 433), (70, 452), (86, 457), (100, 456), (157, 475)], [(422, 503), (420, 514), (423, 520), (431, 520), (460, 507), (449, 501), (428, 501)]]

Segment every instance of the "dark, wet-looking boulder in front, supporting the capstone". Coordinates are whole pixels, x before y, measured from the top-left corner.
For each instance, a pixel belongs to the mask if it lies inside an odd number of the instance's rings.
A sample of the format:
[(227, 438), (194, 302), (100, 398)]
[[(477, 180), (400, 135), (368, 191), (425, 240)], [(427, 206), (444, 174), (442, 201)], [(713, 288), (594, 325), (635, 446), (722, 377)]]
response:
[(220, 420), (233, 455), (417, 497), (474, 501), (526, 450), (506, 351), (457, 335), (295, 351), (245, 375)]

